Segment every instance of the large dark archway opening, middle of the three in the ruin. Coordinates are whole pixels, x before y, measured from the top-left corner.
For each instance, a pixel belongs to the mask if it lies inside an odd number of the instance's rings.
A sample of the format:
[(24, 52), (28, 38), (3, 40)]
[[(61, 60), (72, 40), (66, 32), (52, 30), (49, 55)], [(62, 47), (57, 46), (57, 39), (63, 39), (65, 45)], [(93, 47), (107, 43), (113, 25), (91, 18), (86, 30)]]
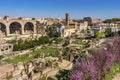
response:
[(21, 24), (18, 22), (13, 22), (10, 24), (10, 34), (21, 34)]

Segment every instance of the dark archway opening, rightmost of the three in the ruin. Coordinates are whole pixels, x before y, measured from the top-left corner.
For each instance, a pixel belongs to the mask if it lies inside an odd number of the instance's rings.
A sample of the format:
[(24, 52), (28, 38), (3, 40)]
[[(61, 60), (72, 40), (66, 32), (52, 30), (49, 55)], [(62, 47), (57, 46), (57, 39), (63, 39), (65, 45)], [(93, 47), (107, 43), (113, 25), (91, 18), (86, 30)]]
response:
[(34, 32), (34, 25), (31, 22), (27, 22), (24, 26), (25, 34), (32, 34)]

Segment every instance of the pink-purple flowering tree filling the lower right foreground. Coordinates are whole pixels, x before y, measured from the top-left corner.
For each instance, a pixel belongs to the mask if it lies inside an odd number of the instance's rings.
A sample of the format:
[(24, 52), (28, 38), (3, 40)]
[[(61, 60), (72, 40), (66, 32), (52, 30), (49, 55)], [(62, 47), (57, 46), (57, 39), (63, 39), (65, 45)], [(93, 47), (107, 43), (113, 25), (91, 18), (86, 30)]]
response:
[(70, 80), (103, 80), (111, 67), (120, 60), (120, 37), (107, 44), (107, 49), (97, 50), (92, 57), (80, 59), (73, 67)]

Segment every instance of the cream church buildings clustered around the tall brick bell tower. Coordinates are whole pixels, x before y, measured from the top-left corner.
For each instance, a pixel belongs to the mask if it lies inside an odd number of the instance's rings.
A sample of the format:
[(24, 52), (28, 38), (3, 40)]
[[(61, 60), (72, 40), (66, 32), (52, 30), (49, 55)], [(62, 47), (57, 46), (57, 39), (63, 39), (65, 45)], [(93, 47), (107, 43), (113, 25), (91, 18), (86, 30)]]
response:
[(78, 21), (70, 20), (70, 14), (65, 14), (65, 21), (59, 22), (57, 26), (57, 31), (61, 33), (62, 37), (69, 37), (72, 34), (79, 34), (83, 29), (88, 28), (88, 22), (79, 23)]

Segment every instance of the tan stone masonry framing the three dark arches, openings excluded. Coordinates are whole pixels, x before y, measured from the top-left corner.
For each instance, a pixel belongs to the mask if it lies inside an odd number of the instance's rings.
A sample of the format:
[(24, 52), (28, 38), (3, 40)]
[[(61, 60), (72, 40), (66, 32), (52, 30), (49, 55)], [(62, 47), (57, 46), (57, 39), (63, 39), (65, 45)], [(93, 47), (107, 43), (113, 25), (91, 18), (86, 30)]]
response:
[[(25, 34), (25, 25), (27, 23), (30, 23), (30, 24), (33, 25), (33, 33), (36, 33), (36, 20), (32, 20), (32, 19), (31, 20), (26, 20), (26, 19), (9, 19), (9, 17), (4, 18), (4, 19), (0, 19), (0, 27), (1, 27), (0, 30), (3, 33), (5, 33), (6, 36), (12, 35), (10, 33), (10, 31), (11, 31), (10, 26), (13, 23), (17, 23), (17, 24), (20, 25), (19, 26), (20, 27), (20, 29), (19, 29), (20, 34)], [(5, 30), (3, 30), (2, 27), (4, 27)], [(15, 27), (17, 27), (17, 26), (15, 26)], [(16, 30), (15, 32), (18, 32), (18, 30)]]

